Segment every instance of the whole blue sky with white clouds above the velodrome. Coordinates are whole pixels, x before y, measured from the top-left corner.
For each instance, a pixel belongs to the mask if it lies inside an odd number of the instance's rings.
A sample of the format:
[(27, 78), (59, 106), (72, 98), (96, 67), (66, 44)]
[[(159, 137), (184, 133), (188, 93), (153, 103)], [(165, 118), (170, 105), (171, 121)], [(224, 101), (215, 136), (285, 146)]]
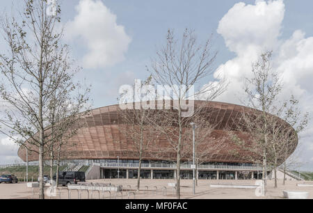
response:
[[(11, 2), (4, 2), (1, 10), (8, 12)], [(231, 81), (218, 100), (238, 104), (250, 63), (265, 48), (273, 49), (275, 68), (285, 77), (284, 94), (294, 93), (303, 111), (313, 115), (312, 6), (312, 0), (63, 0), (62, 24), (65, 42), (83, 67), (78, 78), (92, 84), (94, 107), (115, 104), (120, 85), (147, 77), (145, 65), (168, 29), (179, 36), (188, 28), (202, 41), (214, 33), (215, 69)], [(312, 139), (310, 123), (300, 139), (304, 170), (313, 171)], [(8, 144), (2, 139), (0, 164), (17, 159)]]

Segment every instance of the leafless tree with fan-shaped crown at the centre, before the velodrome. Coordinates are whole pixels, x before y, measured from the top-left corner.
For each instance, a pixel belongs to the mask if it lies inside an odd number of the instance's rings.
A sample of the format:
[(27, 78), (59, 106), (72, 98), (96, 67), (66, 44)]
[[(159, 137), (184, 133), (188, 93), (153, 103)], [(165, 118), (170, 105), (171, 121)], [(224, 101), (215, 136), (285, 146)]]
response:
[(152, 61), (151, 68), (148, 68), (157, 85), (170, 87), (165, 90), (166, 97), (159, 97), (158, 106), (161, 106), (161, 109), (158, 108), (158, 116), (162, 124), (159, 123), (157, 127), (170, 144), (168, 148), (176, 155), (177, 198), (180, 198), (180, 164), (186, 142), (184, 127), (190, 129), (190, 116), (193, 116), (193, 113), (184, 114), (188, 111), (186, 102), (192, 105), (194, 98), (204, 93), (206, 100), (212, 100), (225, 90), (223, 82), (210, 82), (197, 93), (190, 94), (195, 84), (200, 84), (201, 80), (213, 73), (215, 58), (216, 52), (211, 52), (210, 39), (204, 45), (198, 45), (193, 31), (186, 29), (182, 40), (177, 42), (174, 33), (169, 30), (166, 45), (157, 52), (157, 58)]

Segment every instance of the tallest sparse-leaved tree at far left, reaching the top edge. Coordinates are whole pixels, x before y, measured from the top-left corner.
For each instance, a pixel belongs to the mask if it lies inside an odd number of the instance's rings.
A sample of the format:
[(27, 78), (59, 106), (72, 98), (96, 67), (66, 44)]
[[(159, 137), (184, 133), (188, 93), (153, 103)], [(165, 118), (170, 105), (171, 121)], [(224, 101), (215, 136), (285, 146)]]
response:
[(38, 153), (42, 199), (44, 155), (54, 135), (61, 134), (60, 128), (49, 128), (49, 106), (74, 72), (67, 45), (61, 42), (63, 33), (56, 27), (61, 7), (56, 4), (53, 14), (49, 7), (46, 0), (24, 0), (20, 17), (1, 19), (7, 51), (0, 54), (0, 95), (8, 104), (0, 120), (1, 132)]

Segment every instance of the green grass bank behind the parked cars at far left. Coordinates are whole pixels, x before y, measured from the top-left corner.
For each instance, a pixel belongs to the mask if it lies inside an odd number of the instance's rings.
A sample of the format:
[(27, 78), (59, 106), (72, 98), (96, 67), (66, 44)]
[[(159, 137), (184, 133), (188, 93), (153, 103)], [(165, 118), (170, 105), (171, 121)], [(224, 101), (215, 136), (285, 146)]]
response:
[[(60, 166), (60, 171), (62, 171), (66, 166)], [(38, 180), (39, 175), (39, 167), (38, 166), (29, 166), (29, 181), (31, 181), (31, 178), (33, 177), (33, 181)], [(53, 173), (56, 173), (56, 166), (54, 166)], [(24, 178), (26, 178), (26, 166), (13, 166), (8, 168), (0, 168), (0, 174), (13, 174), (15, 175), (19, 181), (24, 181)], [(44, 167), (44, 175), (50, 176), (50, 167), (45, 166)]]

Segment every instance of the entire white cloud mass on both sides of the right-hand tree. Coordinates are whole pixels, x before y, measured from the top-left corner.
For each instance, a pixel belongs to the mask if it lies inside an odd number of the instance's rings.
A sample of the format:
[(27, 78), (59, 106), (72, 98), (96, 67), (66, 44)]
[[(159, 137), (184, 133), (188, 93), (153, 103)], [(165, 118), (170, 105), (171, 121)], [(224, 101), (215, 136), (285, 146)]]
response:
[[(217, 100), (239, 103), (243, 97), (243, 84), (250, 77), (251, 64), (265, 50), (273, 50), (273, 69), (282, 77), (284, 89), (281, 98), (295, 95), (302, 111), (313, 114), (313, 37), (305, 37), (300, 30), (289, 39), (280, 37), (284, 19), (284, 2), (255, 1), (255, 4), (236, 3), (220, 20), (218, 33), (236, 56), (220, 65), (215, 77), (225, 77), (229, 86)], [(220, 77), (217, 75), (220, 74)], [(312, 117), (312, 116), (311, 116)], [(307, 159), (312, 156), (313, 125), (309, 123), (301, 134)]]

